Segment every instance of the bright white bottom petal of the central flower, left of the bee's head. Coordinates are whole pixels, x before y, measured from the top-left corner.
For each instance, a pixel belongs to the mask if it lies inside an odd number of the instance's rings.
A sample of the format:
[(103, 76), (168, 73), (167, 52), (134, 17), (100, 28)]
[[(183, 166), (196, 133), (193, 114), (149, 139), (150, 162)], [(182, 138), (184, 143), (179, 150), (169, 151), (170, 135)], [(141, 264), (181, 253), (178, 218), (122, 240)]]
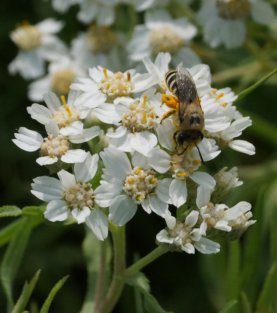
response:
[(155, 134), (149, 131), (136, 132), (134, 136), (131, 137), (131, 147), (144, 156), (156, 146), (157, 142)]

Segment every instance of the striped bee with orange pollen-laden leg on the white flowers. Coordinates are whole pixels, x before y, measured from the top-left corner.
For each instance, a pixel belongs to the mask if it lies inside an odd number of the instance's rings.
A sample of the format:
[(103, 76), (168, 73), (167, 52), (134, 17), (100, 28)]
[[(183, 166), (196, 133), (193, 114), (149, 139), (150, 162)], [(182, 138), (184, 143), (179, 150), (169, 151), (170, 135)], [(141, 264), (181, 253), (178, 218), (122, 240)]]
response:
[[(162, 104), (165, 103), (172, 110), (165, 113), (162, 121), (173, 115), (173, 123), (177, 126), (177, 131), (173, 134), (173, 140), (177, 146), (185, 146), (182, 155), (187, 148), (197, 147), (201, 161), (204, 163), (200, 150), (197, 146), (204, 135), (204, 113), (200, 105), (200, 98), (191, 74), (182, 66), (177, 70), (171, 70), (165, 74), (165, 81), (171, 95), (162, 95)], [(177, 115), (178, 113), (178, 115)]]

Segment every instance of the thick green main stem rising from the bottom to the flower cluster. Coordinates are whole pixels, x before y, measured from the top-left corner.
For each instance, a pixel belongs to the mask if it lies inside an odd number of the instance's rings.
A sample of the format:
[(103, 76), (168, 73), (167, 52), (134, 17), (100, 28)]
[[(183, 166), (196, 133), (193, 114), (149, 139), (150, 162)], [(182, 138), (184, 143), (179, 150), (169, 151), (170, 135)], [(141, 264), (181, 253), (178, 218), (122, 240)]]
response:
[(109, 222), (109, 229), (114, 246), (114, 272), (100, 313), (110, 313), (112, 311), (124, 286), (121, 275), (125, 271), (125, 226), (120, 227)]

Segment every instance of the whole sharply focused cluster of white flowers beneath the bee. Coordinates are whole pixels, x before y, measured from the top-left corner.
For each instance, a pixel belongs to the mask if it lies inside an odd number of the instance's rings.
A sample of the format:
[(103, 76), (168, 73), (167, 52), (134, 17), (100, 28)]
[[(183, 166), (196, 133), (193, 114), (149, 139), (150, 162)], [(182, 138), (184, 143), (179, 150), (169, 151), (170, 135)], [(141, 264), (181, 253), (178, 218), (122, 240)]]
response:
[[(234, 140), (251, 120), (233, 106), (236, 96), (232, 90), (213, 89), (209, 67), (197, 64), (188, 71), (201, 101), (205, 126), (198, 146), (184, 149), (173, 140), (179, 131), (177, 112), (164, 118), (168, 107), (162, 98), (173, 97), (165, 82), (170, 61), (169, 53), (160, 52), (155, 63), (145, 56), (146, 74), (93, 67), (89, 77), (77, 77), (70, 84), (67, 102), (64, 95), (60, 101), (50, 91), (42, 95), (46, 106), (34, 103), (27, 108), (31, 117), (45, 126), (47, 135), (43, 138), (20, 127), (13, 141), (26, 151), (40, 149), (37, 163), (59, 177), (33, 180), (32, 193), (48, 202), (45, 218), (63, 221), (71, 214), (104, 240), (107, 219), (122, 226), (142, 208), (165, 219), (167, 228), (156, 237), (159, 243), (167, 243), (172, 251), (194, 253), (197, 249), (206, 254), (220, 249), (206, 236), (221, 232), (227, 240), (235, 240), (255, 222), (249, 220), (249, 203), (232, 208), (219, 204), (242, 184), (236, 167), (229, 171), (225, 167), (214, 177), (201, 171), (202, 162), (216, 158), (222, 149), (255, 153), (249, 142)], [(101, 138), (95, 138), (98, 136)], [(80, 149), (84, 142), (89, 142), (93, 155)], [(99, 151), (104, 168), (97, 184)], [(73, 173), (66, 171), (70, 166)], [(177, 209), (187, 205), (184, 220), (176, 220), (169, 205)]]

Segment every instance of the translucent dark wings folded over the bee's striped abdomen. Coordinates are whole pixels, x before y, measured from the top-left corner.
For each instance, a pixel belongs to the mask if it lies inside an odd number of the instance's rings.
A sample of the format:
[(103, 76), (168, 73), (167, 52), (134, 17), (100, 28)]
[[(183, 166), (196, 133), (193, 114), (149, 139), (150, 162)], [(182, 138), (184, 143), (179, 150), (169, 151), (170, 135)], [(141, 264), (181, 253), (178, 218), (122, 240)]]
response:
[(177, 96), (179, 100), (178, 116), (182, 122), (186, 108), (190, 103), (196, 102), (200, 108), (201, 105), (192, 75), (187, 71), (187, 69), (182, 66), (178, 66), (175, 80), (177, 84)]

